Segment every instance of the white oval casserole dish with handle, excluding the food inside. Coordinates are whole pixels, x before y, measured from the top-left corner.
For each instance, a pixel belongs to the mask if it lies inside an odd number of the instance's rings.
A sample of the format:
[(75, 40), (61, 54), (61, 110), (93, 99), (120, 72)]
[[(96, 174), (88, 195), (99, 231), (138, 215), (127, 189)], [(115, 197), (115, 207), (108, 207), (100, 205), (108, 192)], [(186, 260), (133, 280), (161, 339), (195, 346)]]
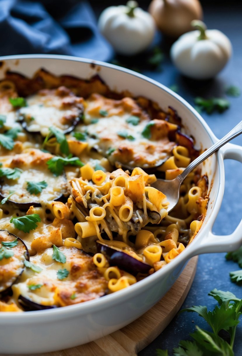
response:
[[(99, 74), (112, 90), (128, 89), (157, 102), (164, 110), (178, 111), (196, 148), (208, 148), (218, 139), (191, 105), (179, 95), (144, 75), (108, 63), (57, 55), (0, 57), (6, 70), (32, 77), (39, 68), (56, 75), (90, 78)], [(228, 236), (215, 236), (211, 229), (224, 193), (225, 158), (242, 162), (242, 147), (228, 143), (202, 166), (209, 178), (210, 200), (204, 223), (193, 242), (169, 265), (119, 292), (68, 307), (26, 313), (0, 313), (0, 354), (34, 354), (66, 349), (98, 339), (131, 323), (144, 314), (170, 289), (186, 261), (200, 253), (227, 252), (242, 243), (242, 220)], [(10, 342), (11, 339), (11, 342)]]

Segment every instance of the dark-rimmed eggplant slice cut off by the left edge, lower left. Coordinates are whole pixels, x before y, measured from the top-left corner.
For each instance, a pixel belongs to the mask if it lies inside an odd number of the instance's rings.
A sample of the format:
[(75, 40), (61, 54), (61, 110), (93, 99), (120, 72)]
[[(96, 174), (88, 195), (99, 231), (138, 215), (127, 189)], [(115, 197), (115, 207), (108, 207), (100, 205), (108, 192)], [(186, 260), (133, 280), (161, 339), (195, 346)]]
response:
[(24, 242), (7, 230), (0, 230), (0, 293), (21, 276), (25, 260), (29, 261), (29, 253)]

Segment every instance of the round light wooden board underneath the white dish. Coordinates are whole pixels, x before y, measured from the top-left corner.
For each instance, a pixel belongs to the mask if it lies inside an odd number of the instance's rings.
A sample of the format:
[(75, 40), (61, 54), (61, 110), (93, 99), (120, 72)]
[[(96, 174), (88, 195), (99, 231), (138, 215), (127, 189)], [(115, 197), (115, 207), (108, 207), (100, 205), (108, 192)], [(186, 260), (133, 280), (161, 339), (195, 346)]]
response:
[(197, 256), (188, 261), (169, 292), (133, 323), (88, 344), (36, 356), (136, 356), (166, 328), (181, 308), (192, 285), (197, 261)]

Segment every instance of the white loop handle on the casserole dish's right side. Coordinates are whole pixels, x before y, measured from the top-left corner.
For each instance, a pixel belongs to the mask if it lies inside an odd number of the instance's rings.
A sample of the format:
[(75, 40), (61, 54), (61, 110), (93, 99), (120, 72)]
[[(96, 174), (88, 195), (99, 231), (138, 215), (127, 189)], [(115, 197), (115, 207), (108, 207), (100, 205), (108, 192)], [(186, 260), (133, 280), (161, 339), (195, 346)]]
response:
[[(220, 148), (220, 152), (224, 159), (235, 159), (242, 163), (242, 146), (227, 143)], [(242, 245), (242, 219), (230, 235), (214, 235), (211, 229), (199, 246), (199, 254), (234, 251)]]

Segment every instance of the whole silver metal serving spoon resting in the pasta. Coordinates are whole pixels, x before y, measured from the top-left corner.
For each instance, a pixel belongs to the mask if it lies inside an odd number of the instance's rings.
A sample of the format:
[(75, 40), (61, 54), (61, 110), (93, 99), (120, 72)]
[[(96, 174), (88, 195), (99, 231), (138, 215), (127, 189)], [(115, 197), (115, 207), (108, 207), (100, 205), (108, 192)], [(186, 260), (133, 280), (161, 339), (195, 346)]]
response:
[(180, 195), (180, 186), (183, 180), (187, 177), (187, 175), (198, 166), (198, 164), (205, 161), (206, 158), (211, 156), (214, 152), (218, 151), (220, 147), (224, 146), (225, 143), (232, 140), (236, 136), (242, 133), (242, 121), (238, 125), (236, 125), (227, 135), (225, 135), (221, 140), (216, 142), (213, 146), (211, 146), (208, 150), (204, 151), (202, 155), (198, 156), (194, 161), (192, 161), (175, 179), (165, 180), (165, 179), (157, 179), (152, 186), (164, 194), (166, 194), (167, 201), (169, 201), (169, 205), (167, 211), (171, 211), (177, 204), (179, 195)]

